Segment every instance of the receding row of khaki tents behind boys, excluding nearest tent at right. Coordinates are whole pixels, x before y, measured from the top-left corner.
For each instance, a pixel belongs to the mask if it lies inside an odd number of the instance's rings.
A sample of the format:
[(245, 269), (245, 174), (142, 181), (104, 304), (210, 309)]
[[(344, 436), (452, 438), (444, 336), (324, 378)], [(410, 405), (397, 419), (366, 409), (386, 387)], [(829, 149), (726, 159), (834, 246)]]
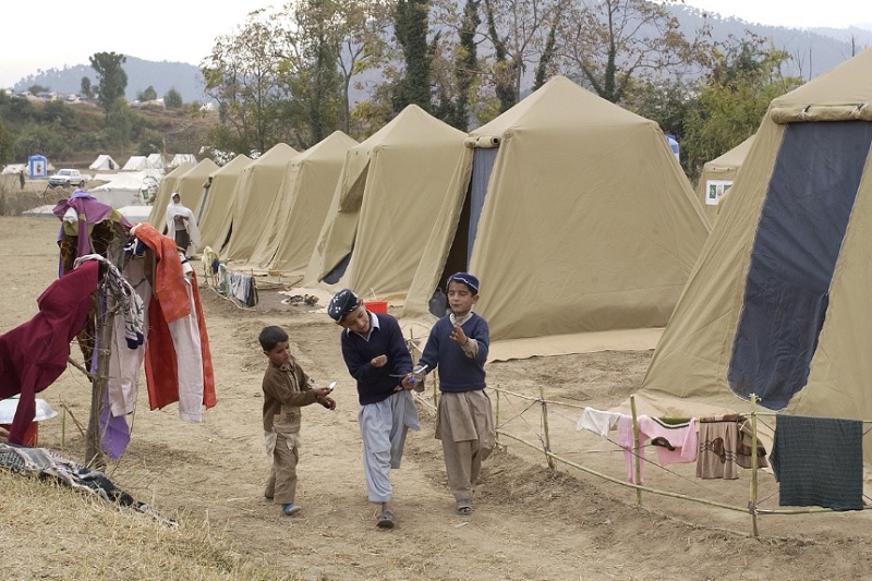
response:
[(405, 317), (469, 268), (494, 340), (665, 326), (710, 230), (657, 124), (561, 76), (469, 134), (410, 106), (362, 143), (179, 168), (159, 229), (173, 192), (223, 261)]

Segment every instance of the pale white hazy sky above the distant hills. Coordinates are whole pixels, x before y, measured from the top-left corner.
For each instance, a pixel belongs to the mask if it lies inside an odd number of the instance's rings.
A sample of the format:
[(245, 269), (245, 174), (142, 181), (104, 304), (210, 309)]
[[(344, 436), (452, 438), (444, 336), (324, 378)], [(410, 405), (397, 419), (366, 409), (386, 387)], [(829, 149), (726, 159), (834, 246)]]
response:
[[(249, 12), (280, 5), (264, 0), (43, 0), (38, 10), (10, 12), (0, 32), (0, 87), (39, 70), (88, 64), (95, 52), (199, 64), (217, 36), (232, 34)], [(783, 26), (872, 27), (867, 0), (687, 0), (749, 22)], [(825, 8), (823, 8), (825, 7)], [(37, 17), (31, 14), (37, 14)]]

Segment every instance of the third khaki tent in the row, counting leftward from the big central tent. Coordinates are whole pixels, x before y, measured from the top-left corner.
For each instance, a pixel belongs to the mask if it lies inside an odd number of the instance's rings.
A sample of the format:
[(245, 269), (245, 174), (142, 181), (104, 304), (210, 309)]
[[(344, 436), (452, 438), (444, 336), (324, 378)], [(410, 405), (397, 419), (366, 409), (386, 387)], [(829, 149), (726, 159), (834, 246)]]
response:
[(291, 160), (250, 264), (283, 271), (305, 270), (346, 154), (355, 145), (356, 141), (335, 131)]

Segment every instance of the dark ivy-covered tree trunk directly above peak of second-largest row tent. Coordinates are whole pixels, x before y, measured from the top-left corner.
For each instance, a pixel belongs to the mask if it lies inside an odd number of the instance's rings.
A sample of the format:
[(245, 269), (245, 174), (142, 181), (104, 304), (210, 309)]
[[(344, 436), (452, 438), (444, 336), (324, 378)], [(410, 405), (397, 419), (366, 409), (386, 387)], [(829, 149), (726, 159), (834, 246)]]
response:
[(393, 108), (399, 112), (414, 104), (431, 110), (431, 51), (427, 45), (427, 0), (399, 0), (393, 15), (393, 34), (405, 69), (395, 87)]

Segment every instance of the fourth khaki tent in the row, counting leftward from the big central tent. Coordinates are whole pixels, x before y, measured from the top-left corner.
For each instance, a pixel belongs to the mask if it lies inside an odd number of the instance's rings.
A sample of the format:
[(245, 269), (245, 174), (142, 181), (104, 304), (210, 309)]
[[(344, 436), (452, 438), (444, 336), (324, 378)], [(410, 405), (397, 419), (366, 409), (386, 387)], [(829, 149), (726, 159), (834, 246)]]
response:
[(234, 192), (230, 238), (221, 249), (222, 258), (247, 262), (251, 257), (272, 199), (279, 194), (288, 164), (298, 154), (290, 145), (279, 143), (242, 170)]

